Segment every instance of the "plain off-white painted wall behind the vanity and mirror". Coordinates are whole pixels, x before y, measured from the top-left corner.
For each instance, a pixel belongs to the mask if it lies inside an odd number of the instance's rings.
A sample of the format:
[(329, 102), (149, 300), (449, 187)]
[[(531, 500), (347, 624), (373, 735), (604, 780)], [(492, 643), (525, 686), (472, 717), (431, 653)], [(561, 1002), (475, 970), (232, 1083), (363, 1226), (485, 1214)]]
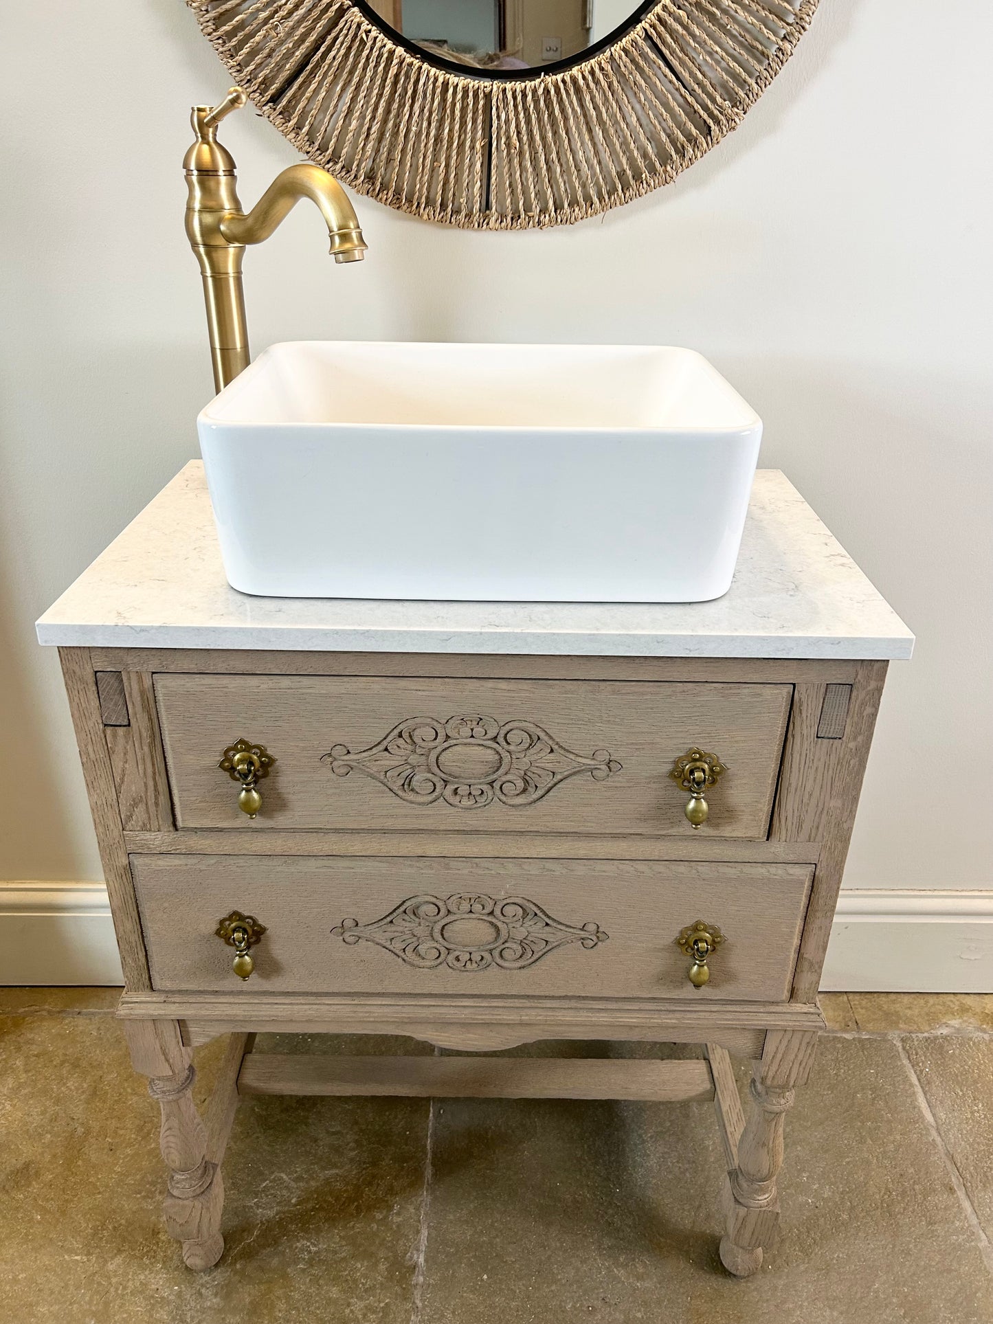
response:
[[(993, 7), (825, 0), (745, 124), (674, 185), (522, 234), (359, 199), (338, 267), (299, 208), (246, 257), (256, 350), (303, 336), (687, 344), (919, 636), (891, 669), (846, 883), (993, 886)], [(0, 878), (97, 879), (34, 617), (196, 453), (211, 393), (183, 234), (188, 107), (228, 75), (181, 0), (8, 7), (0, 209)], [(295, 159), (224, 138), (254, 201)], [(960, 769), (960, 771), (959, 771)]]

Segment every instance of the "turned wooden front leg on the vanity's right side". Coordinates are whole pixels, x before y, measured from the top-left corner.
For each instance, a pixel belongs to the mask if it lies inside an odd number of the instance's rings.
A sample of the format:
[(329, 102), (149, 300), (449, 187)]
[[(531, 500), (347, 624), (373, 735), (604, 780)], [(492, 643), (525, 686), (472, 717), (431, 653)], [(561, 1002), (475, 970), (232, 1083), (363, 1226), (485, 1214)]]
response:
[[(724, 1128), (726, 1149), (733, 1165), (724, 1188), (727, 1230), (720, 1242), (720, 1260), (739, 1278), (759, 1268), (763, 1247), (771, 1246), (776, 1235), (782, 1124), (793, 1103), (794, 1086), (802, 1084), (810, 1074), (816, 1042), (817, 1035), (810, 1031), (771, 1030), (761, 1061), (755, 1063), (749, 1086), (752, 1111), (740, 1136), (735, 1135), (733, 1106), (726, 1108), (731, 1113), (730, 1125)], [(718, 1111), (720, 1116), (719, 1092)], [(737, 1112), (740, 1116), (740, 1104)]]

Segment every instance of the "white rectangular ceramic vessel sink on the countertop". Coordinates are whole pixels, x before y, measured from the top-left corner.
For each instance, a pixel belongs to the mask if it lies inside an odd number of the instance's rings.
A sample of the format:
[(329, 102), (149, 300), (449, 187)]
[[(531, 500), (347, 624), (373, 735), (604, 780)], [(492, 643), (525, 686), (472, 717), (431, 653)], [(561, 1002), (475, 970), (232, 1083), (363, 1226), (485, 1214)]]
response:
[(761, 440), (649, 346), (274, 344), (197, 426), (228, 579), (277, 597), (719, 597)]

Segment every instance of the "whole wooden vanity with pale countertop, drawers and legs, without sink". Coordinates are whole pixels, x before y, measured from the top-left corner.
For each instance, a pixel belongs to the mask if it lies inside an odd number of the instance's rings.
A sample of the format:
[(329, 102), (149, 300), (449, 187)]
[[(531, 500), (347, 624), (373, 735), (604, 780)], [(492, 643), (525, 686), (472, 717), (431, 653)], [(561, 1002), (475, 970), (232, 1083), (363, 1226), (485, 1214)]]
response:
[[(716, 601), (442, 604), (234, 592), (191, 463), (38, 637), (191, 1268), (222, 1253), (221, 1160), (260, 1092), (714, 1100), (720, 1255), (759, 1267), (887, 659), (912, 646), (780, 473)], [(256, 1054), (263, 1030), (470, 1055)], [(222, 1034), (201, 1119), (193, 1049)], [(479, 1055), (538, 1039), (700, 1053)]]

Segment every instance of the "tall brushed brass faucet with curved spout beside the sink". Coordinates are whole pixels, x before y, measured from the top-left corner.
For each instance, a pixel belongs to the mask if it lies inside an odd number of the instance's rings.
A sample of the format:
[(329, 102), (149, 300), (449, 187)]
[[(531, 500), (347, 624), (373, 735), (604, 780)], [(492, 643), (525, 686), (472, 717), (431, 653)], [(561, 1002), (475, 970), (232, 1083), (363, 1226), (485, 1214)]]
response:
[(302, 197), (310, 197), (327, 224), (335, 262), (360, 262), (367, 248), (344, 189), (318, 166), (290, 166), (275, 176), (248, 216), (242, 212), (236, 191), (234, 162), (217, 142), (217, 126), (246, 101), (241, 87), (232, 87), (213, 109), (193, 106), (191, 123), (196, 142), (183, 162), (189, 187), (187, 237), (204, 279), (217, 391), (249, 364), (241, 285), (246, 244), (267, 240), (286, 213)]

